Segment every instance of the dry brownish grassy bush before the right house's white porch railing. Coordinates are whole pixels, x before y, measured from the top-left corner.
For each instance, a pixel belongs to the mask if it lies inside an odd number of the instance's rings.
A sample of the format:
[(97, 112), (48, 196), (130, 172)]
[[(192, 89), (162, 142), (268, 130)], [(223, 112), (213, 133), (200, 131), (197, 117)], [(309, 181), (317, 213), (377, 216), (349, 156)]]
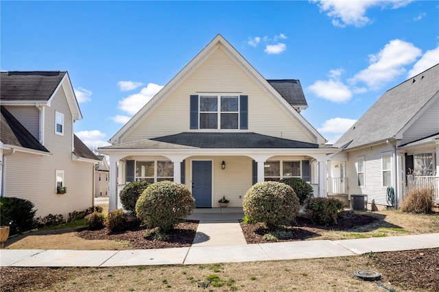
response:
[(433, 188), (413, 188), (408, 191), (407, 197), (403, 200), (401, 210), (403, 212), (431, 213), (433, 208)]

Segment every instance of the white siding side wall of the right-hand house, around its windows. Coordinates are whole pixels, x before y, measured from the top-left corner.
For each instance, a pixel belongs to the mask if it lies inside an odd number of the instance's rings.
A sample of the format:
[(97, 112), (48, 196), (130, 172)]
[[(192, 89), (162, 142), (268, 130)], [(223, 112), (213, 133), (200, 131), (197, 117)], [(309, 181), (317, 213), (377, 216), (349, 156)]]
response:
[[(375, 199), (377, 205), (387, 205), (387, 186), (383, 186), (382, 156), (392, 154), (392, 186), (394, 186), (394, 149), (391, 145), (376, 145), (357, 151), (348, 152), (346, 173), (348, 177), (348, 194), (366, 194), (368, 203)], [(357, 158), (364, 157), (364, 186), (358, 186)]]

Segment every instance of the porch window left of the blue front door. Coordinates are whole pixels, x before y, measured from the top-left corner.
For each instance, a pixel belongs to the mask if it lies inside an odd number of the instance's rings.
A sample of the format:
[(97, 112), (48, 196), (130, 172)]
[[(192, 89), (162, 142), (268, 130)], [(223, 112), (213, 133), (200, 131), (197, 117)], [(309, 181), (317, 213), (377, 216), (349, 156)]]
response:
[(174, 163), (171, 161), (137, 161), (135, 165), (135, 180), (137, 182), (174, 181)]

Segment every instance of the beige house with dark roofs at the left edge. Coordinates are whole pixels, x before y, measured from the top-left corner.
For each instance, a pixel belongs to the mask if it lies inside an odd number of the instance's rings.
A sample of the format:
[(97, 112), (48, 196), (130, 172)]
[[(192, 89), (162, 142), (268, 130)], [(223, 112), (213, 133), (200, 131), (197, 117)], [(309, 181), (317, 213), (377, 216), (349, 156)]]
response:
[[(93, 206), (95, 163), (73, 134), (82, 119), (69, 74), (0, 73), (1, 196), (28, 199), (36, 216), (67, 216)], [(59, 187), (67, 187), (64, 194)]]

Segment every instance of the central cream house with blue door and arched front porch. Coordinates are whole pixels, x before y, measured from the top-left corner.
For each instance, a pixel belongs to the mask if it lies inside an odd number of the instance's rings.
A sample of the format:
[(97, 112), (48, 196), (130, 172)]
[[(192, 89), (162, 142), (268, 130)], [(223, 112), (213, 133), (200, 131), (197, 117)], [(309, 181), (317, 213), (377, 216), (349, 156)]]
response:
[(298, 80), (265, 80), (216, 36), (98, 151), (110, 157), (110, 210), (128, 182), (174, 180), (197, 207), (242, 206), (255, 182), (298, 177), (325, 197), (336, 151), (300, 115)]

